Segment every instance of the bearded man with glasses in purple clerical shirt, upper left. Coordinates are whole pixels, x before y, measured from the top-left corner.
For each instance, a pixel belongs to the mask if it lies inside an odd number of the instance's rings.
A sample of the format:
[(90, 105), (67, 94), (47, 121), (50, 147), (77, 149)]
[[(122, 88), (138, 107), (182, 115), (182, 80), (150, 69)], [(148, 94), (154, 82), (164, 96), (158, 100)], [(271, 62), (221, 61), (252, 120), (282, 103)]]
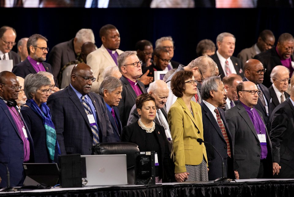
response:
[[(21, 63), (15, 65), (12, 72), (25, 78), (28, 74), (36, 74), (39, 71), (46, 71), (53, 74), (50, 64), (46, 63), (46, 55), (49, 51), (47, 38), (40, 34), (34, 34), (28, 38), (28, 57)], [(56, 80), (55, 80), (56, 83)]]

